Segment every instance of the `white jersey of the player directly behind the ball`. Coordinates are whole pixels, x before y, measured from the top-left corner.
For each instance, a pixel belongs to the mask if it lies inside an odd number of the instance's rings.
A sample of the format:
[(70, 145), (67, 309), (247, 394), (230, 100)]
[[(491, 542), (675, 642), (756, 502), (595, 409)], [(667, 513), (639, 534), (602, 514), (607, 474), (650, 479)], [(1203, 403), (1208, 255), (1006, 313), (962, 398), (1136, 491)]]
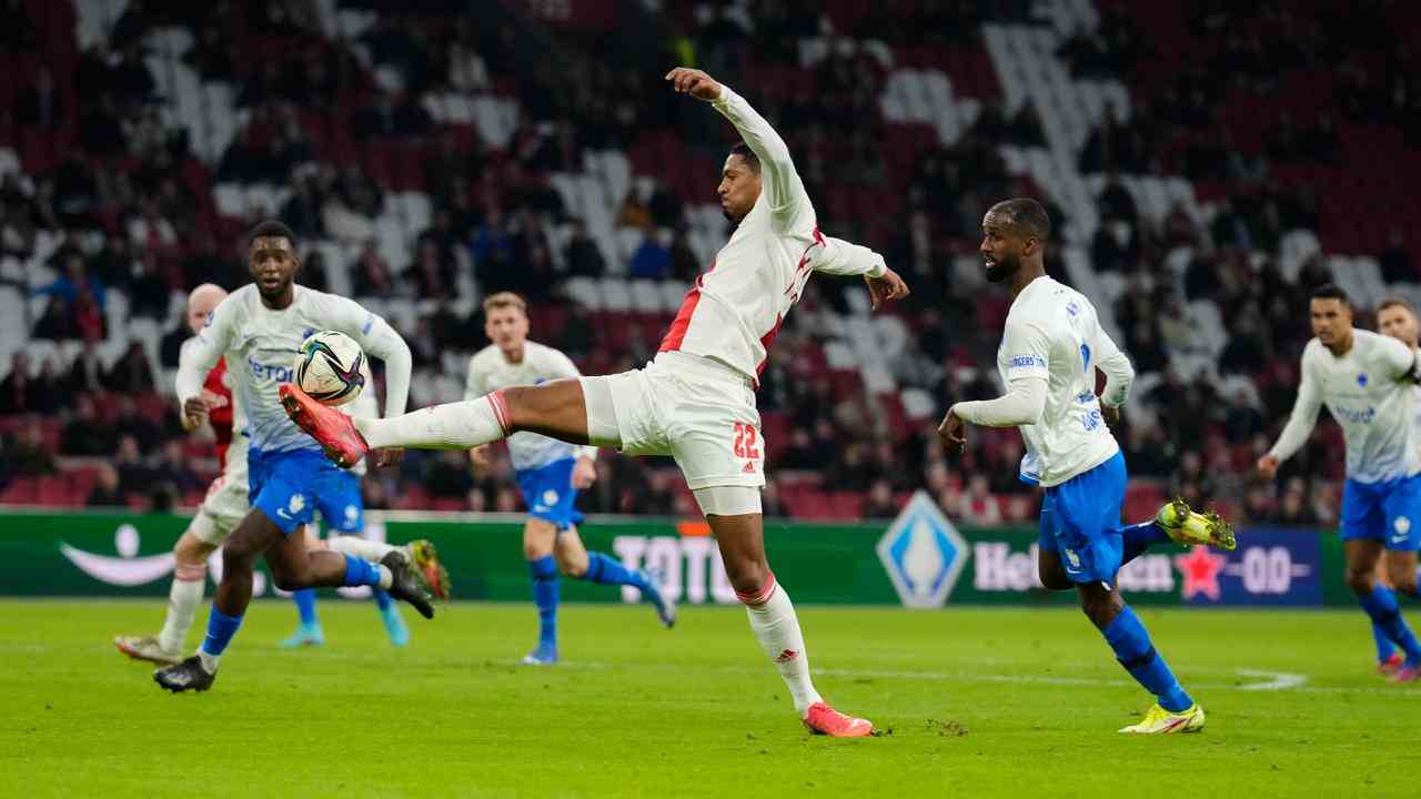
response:
[(252, 449), (284, 452), (320, 449), (311, 436), (287, 418), (277, 387), (291, 382), (291, 360), (310, 334), (338, 330), (368, 354), (385, 361), (385, 415), (405, 412), (409, 398), (409, 347), (381, 317), (358, 303), (304, 286), (294, 287), (291, 304), (269, 309), (254, 284), (227, 296), (198, 334), (196, 357), (178, 368), (178, 400), (202, 391), (207, 370), (223, 355), (232, 375), (233, 398), (246, 414), (244, 432)]

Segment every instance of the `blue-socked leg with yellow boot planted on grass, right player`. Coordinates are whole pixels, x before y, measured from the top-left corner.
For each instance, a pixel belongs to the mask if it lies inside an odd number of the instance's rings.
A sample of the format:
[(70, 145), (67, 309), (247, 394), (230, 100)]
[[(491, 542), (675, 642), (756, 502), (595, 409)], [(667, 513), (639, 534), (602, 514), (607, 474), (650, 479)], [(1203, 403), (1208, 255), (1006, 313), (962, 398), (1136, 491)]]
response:
[(1115, 653), (1120, 665), (1155, 697), (1140, 724), (1121, 728), (1120, 732), (1169, 734), (1198, 732), (1204, 729), (1204, 708), (1201, 708), (1169, 671), (1164, 655), (1155, 651), (1150, 633), (1140, 623), (1135, 611), (1125, 604), (1120, 591), (1104, 581), (1081, 583), (1081, 610), (1106, 637)]

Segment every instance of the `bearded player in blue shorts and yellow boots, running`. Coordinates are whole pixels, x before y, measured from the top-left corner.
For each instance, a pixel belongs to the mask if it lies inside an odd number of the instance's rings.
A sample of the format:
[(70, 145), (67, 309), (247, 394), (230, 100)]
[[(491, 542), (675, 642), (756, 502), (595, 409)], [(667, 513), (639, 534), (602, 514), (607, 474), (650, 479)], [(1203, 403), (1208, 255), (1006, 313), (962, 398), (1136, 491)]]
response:
[[(1140, 525), (1121, 526), (1125, 459), (1108, 424), (1118, 418), (1134, 380), (1130, 360), (1100, 327), (1084, 294), (1053, 280), (1042, 262), (1050, 237), (1046, 209), (1033, 199), (1009, 199), (982, 219), (982, 257), (992, 283), (1007, 281), (998, 371), (1007, 392), (996, 400), (958, 402), (938, 432), (949, 451), (966, 445), (965, 425), (1017, 427), (1026, 439), (1023, 478), (1044, 486), (1039, 570), (1054, 590), (1074, 587), (1081, 610), (1106, 637), (1120, 664), (1157, 704), (1133, 734), (1196, 732), (1204, 708), (1175, 680), (1140, 617), (1115, 584), (1120, 567), (1150, 545), (1174, 539), (1233, 549), (1233, 532), (1216, 516), (1182, 500)], [(1106, 387), (1096, 395), (1096, 370)]]

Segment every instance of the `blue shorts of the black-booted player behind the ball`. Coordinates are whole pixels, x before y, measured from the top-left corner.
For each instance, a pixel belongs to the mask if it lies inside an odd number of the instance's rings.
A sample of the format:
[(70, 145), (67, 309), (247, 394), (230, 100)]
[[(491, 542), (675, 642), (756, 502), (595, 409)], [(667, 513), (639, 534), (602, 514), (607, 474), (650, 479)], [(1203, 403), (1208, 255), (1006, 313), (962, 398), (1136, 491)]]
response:
[(318, 449), (247, 452), (247, 485), (257, 508), (283, 535), (310, 525), (315, 510), (337, 532), (365, 527), (360, 478), (325, 459)]

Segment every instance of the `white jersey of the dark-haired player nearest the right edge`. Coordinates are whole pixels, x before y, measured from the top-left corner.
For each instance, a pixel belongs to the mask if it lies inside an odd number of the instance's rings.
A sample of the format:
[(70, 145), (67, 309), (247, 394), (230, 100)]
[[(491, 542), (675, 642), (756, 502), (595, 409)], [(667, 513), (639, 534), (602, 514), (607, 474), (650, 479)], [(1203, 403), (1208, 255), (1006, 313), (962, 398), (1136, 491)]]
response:
[(1347, 441), (1347, 478), (1373, 483), (1421, 471), (1414, 424), (1415, 351), (1367, 330), (1351, 331), (1341, 357), (1313, 338), (1303, 347), (1302, 381), (1293, 414), (1269, 452), (1286, 461), (1297, 452), (1327, 405)]

